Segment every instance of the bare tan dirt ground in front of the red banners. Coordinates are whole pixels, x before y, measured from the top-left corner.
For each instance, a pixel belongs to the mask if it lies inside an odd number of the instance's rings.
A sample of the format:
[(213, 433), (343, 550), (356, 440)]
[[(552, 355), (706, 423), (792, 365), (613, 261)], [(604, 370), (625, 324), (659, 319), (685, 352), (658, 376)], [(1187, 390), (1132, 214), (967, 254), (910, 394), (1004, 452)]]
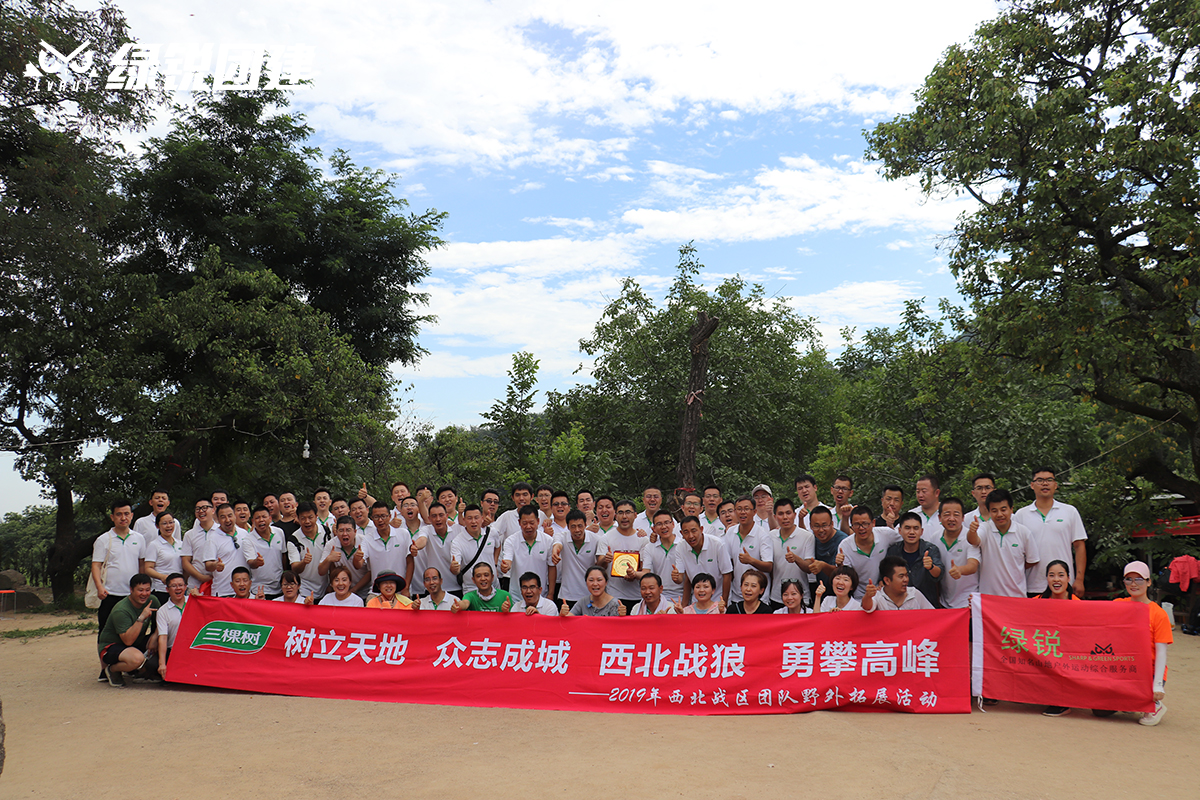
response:
[[(0, 631), (77, 621), (18, 615)], [(407, 705), (96, 682), (95, 632), (0, 640), (0, 798), (1196, 796), (1200, 637), (1168, 712), (688, 717)], [(808, 789), (808, 792), (806, 792)]]

